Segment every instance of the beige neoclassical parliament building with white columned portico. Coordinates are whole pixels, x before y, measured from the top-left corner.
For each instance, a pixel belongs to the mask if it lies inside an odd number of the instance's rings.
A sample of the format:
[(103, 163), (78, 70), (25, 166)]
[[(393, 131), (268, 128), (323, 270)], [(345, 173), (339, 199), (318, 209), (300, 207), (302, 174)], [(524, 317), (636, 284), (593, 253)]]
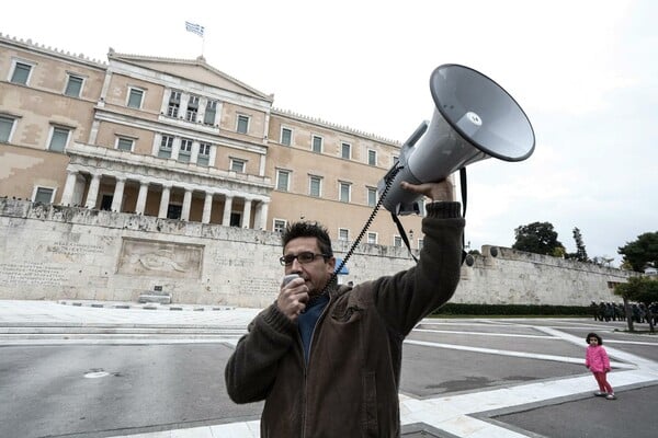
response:
[[(266, 231), (314, 220), (353, 241), (399, 152), (203, 57), (99, 61), (0, 34), (0, 197)], [(402, 218), (415, 250), (420, 220)], [(361, 243), (402, 245), (384, 209)]]

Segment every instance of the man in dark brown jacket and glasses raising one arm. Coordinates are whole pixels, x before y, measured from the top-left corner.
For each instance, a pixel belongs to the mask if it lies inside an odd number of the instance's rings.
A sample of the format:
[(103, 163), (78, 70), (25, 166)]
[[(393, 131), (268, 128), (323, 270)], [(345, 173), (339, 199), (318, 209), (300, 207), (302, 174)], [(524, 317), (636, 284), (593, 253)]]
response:
[(276, 301), (249, 324), (225, 370), (236, 403), (264, 400), (261, 438), (399, 437), (402, 341), (460, 280), (464, 219), (451, 182), (402, 188), (433, 201), (418, 265), (354, 287), (332, 281), (327, 231), (298, 222), (282, 235)]

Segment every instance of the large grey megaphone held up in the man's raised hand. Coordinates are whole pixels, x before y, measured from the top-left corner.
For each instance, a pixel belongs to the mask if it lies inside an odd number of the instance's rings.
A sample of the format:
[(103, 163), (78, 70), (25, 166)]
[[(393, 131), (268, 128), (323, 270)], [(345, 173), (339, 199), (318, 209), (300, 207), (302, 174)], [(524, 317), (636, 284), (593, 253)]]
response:
[(430, 91), (435, 105), (432, 122), (416, 129), (377, 184), (384, 207), (396, 215), (420, 212), (417, 200), (422, 195), (400, 188), (402, 181), (438, 182), (480, 160), (522, 161), (534, 151), (527, 116), (485, 74), (456, 64), (442, 65), (430, 77)]

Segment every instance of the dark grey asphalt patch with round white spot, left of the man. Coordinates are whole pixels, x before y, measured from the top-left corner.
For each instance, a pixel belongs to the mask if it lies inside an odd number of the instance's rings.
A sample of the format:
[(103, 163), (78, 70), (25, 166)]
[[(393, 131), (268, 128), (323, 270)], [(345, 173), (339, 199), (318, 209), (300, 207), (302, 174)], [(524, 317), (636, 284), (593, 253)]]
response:
[(0, 348), (0, 437), (109, 437), (242, 420), (224, 344)]

